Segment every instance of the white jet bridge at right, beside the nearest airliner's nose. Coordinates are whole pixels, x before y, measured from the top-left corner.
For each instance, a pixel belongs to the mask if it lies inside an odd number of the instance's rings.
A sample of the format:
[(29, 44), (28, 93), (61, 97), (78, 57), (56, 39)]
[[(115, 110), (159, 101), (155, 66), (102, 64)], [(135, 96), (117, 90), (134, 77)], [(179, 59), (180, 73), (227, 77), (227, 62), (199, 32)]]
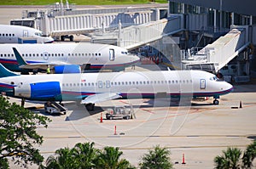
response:
[(182, 50), (183, 68), (218, 72), (250, 44), (248, 26), (233, 26), (224, 36), (198, 51)]

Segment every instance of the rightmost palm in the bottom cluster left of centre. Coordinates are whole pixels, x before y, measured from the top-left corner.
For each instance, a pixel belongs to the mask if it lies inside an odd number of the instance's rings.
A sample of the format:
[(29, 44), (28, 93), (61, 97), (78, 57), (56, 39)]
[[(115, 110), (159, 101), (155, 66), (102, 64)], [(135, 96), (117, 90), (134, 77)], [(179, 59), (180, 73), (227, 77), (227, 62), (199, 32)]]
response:
[(98, 155), (96, 160), (96, 168), (104, 169), (129, 169), (135, 168), (131, 166), (129, 161), (125, 159), (119, 160), (120, 156), (123, 155), (119, 148), (105, 147), (102, 152)]

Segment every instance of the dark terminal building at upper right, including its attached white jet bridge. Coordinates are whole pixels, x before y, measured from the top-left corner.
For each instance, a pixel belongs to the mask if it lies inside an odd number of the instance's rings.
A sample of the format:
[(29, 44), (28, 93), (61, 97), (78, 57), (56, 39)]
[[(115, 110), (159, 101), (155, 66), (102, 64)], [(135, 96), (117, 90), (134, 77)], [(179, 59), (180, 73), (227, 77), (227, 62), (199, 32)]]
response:
[(169, 0), (169, 16), (183, 16), (183, 69), (250, 81), (256, 70), (255, 6), (250, 0)]

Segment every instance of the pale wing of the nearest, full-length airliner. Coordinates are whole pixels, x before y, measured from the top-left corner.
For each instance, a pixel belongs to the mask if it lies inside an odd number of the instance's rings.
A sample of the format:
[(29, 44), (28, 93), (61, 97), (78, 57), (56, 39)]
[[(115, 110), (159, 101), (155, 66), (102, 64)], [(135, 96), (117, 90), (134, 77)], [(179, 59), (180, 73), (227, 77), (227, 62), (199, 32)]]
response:
[(112, 99), (122, 98), (118, 93), (98, 93), (90, 95), (87, 98), (83, 99), (80, 104), (96, 104), (99, 102), (104, 102)]

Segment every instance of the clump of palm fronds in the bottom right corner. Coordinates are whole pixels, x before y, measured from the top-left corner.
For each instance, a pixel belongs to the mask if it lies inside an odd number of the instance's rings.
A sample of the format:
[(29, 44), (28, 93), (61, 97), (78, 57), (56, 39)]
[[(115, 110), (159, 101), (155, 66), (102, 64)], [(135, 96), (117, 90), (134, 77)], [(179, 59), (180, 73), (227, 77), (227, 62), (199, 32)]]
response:
[(239, 169), (252, 168), (253, 160), (256, 157), (256, 141), (249, 144), (247, 149), (243, 152), (241, 149), (228, 148), (223, 150), (223, 155), (218, 155), (214, 158), (216, 169)]

